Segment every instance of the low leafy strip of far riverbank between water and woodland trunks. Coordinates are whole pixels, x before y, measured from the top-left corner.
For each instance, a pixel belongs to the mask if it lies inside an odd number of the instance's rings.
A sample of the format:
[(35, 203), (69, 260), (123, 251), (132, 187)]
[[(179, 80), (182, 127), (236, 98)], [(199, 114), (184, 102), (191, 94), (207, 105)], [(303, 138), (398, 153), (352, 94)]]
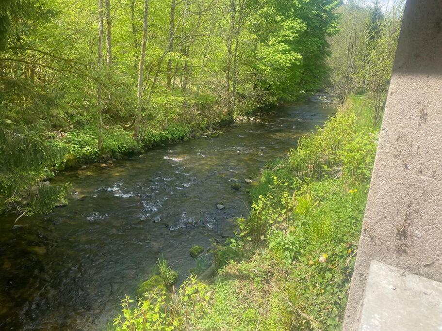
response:
[[(65, 206), (69, 185), (53, 187), (48, 181), (65, 170), (143, 155), (153, 148), (189, 139), (216, 138), (222, 134), (223, 128), (245, 122), (259, 123), (260, 120), (256, 116), (262, 115), (261, 110), (250, 112), (249, 116), (238, 115), (234, 121), (223, 117), (199, 118), (192, 124), (177, 122), (170, 123), (165, 128), (143, 128), (138, 141), (133, 140), (131, 131), (121, 126), (107, 126), (103, 128), (101, 149), (98, 149), (98, 131), (95, 126), (44, 131), (38, 139), (32, 138), (35, 145), (40, 145), (38, 148), (42, 150), (42, 155), (35, 156), (40, 165), (37, 167), (30, 163), (25, 173), (15, 174), (20, 185), (12, 197), (3, 197), (0, 187), (0, 215), (2, 212), (14, 210), (17, 216), (46, 214), (56, 206)], [(5, 192), (8, 192), (11, 187), (17, 186), (17, 181), (10, 184), (5, 181), (3, 184)]]

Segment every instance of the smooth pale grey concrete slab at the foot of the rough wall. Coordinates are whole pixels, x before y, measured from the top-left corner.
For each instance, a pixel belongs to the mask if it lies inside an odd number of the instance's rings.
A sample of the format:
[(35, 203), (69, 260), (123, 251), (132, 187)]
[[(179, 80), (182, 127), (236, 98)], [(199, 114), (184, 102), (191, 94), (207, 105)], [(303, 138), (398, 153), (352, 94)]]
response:
[(441, 331), (442, 283), (372, 261), (359, 331)]

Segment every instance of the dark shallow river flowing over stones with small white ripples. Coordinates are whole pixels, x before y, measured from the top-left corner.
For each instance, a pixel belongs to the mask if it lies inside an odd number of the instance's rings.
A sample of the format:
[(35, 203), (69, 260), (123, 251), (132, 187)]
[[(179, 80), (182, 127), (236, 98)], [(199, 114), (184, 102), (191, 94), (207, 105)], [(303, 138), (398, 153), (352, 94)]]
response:
[[(231, 219), (248, 213), (244, 180), (257, 178), (335, 109), (314, 98), (219, 138), (53, 179), (72, 183), (67, 207), (16, 225), (13, 215), (0, 221), (0, 329), (102, 330), (118, 312), (118, 298), (151, 276), (160, 254), (184, 279), (196, 265), (189, 249), (233, 235)], [(239, 191), (231, 189), (235, 181)]]

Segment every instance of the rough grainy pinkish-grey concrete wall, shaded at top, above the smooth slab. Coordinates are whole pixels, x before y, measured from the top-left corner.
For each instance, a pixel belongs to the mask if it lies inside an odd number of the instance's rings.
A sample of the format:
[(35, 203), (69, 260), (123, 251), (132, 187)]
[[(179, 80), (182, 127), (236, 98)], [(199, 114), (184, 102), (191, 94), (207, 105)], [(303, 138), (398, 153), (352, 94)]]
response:
[(406, 4), (344, 331), (373, 259), (442, 281), (442, 0)]

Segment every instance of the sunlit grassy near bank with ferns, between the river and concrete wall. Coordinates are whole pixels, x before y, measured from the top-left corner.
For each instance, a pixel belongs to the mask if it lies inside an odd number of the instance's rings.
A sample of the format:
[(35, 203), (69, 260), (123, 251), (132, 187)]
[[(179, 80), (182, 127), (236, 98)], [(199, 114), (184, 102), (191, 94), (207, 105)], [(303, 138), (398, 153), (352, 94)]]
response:
[(342, 324), (376, 154), (365, 98), (270, 164), (238, 236), (214, 250), (212, 284), (189, 279), (174, 300), (126, 299), (117, 329), (335, 330)]

